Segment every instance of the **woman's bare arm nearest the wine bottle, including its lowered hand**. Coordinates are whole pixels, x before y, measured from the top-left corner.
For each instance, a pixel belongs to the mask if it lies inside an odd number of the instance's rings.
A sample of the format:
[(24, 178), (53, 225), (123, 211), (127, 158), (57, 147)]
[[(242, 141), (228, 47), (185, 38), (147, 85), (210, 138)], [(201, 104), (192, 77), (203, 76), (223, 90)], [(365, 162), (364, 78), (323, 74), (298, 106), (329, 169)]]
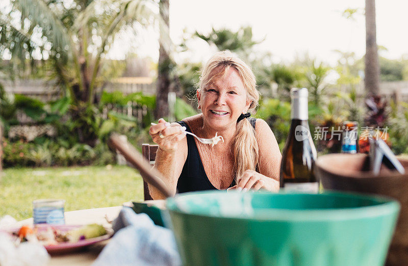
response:
[(279, 171), (281, 168), (281, 151), (269, 125), (257, 119), (255, 136), (259, 147), (259, 173), (246, 170), (238, 178), (237, 185), (231, 189), (238, 191), (260, 190), (279, 191)]

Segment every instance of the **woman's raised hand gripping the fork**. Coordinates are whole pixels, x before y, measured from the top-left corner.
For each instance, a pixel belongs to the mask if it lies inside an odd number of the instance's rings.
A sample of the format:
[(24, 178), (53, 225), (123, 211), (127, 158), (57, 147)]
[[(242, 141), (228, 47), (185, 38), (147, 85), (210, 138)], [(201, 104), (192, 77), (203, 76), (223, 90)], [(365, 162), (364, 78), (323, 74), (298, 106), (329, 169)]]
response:
[(172, 152), (177, 149), (179, 142), (185, 138), (186, 127), (170, 126), (163, 118), (158, 124), (152, 124), (149, 129), (151, 139), (159, 145), (163, 151)]

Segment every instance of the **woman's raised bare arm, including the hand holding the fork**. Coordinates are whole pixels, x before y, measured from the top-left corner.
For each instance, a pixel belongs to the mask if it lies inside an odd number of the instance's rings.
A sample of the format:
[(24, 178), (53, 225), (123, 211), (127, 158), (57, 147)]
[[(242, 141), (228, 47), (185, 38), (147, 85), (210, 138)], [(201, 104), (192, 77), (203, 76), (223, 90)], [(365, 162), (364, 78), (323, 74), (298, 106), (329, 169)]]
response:
[[(154, 167), (166, 178), (163, 181), (173, 195), (187, 158), (187, 139), (184, 130), (185, 127), (179, 123), (172, 123), (170, 126), (164, 119), (160, 119), (157, 125), (152, 125), (149, 129), (151, 138), (159, 145)], [(151, 198), (165, 198), (152, 185), (149, 184), (148, 187)]]

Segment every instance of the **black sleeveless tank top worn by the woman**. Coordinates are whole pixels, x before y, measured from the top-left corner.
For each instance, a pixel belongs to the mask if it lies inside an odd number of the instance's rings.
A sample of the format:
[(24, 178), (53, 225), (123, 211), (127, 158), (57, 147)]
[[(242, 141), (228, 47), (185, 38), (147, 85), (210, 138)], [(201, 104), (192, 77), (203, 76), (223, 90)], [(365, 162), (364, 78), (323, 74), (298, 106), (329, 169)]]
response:
[[(248, 118), (249, 122), (255, 128), (256, 118)], [(191, 132), (190, 127), (184, 121), (177, 122), (186, 127), (186, 130)], [(216, 190), (214, 185), (207, 177), (206, 171), (201, 162), (200, 154), (198, 153), (197, 145), (195, 144), (194, 137), (186, 135), (187, 137), (187, 159), (184, 163), (182, 173), (177, 181), (177, 192), (191, 192), (201, 190)], [(235, 179), (230, 185), (234, 187)]]

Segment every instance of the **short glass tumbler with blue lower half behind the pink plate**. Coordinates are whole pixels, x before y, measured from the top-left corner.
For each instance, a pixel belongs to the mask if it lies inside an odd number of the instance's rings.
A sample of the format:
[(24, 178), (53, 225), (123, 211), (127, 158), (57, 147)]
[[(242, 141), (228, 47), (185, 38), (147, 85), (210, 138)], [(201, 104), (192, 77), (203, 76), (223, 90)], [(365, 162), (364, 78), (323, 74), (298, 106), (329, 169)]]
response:
[(64, 204), (61, 199), (34, 200), (34, 224), (65, 224)]

